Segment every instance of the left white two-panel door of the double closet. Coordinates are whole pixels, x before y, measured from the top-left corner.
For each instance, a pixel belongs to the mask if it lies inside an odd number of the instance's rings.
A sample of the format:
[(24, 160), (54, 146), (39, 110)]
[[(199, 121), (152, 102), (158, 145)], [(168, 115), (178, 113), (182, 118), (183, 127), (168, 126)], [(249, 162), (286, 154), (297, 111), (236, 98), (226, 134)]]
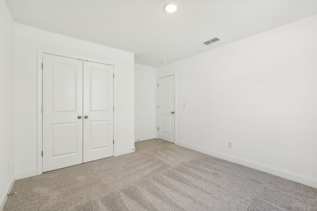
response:
[(83, 61), (43, 54), (43, 172), (83, 162)]

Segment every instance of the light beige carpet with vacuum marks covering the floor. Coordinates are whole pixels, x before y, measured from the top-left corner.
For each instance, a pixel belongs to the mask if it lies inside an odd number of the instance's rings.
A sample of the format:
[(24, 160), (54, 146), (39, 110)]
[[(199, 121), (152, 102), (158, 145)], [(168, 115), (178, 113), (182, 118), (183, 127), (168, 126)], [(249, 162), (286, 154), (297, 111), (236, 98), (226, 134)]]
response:
[(4, 211), (317, 211), (317, 189), (159, 139), (17, 180)]

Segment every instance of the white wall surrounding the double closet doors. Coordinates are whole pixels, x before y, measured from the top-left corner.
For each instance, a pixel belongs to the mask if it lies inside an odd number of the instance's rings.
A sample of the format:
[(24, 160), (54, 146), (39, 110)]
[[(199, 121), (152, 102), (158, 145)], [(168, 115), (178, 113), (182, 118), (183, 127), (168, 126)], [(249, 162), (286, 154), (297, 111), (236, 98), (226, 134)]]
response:
[(44, 52), (114, 65), (114, 155), (134, 151), (133, 53), (20, 24), (15, 24), (14, 34), (17, 178), (36, 175), (38, 170), (38, 48)]

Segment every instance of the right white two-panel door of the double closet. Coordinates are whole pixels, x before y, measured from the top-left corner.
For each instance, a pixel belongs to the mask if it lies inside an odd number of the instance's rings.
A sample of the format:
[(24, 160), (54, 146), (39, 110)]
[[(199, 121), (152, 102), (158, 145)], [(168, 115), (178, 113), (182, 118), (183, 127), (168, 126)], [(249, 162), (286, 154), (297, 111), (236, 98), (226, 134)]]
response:
[(113, 156), (113, 66), (84, 61), (83, 161)]

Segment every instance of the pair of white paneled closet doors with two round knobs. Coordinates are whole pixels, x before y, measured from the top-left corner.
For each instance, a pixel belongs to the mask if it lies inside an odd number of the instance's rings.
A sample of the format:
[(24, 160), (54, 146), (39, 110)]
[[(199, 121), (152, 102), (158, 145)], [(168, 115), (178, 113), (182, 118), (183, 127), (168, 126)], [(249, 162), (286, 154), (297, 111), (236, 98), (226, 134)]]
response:
[(43, 172), (113, 156), (113, 66), (43, 54)]

